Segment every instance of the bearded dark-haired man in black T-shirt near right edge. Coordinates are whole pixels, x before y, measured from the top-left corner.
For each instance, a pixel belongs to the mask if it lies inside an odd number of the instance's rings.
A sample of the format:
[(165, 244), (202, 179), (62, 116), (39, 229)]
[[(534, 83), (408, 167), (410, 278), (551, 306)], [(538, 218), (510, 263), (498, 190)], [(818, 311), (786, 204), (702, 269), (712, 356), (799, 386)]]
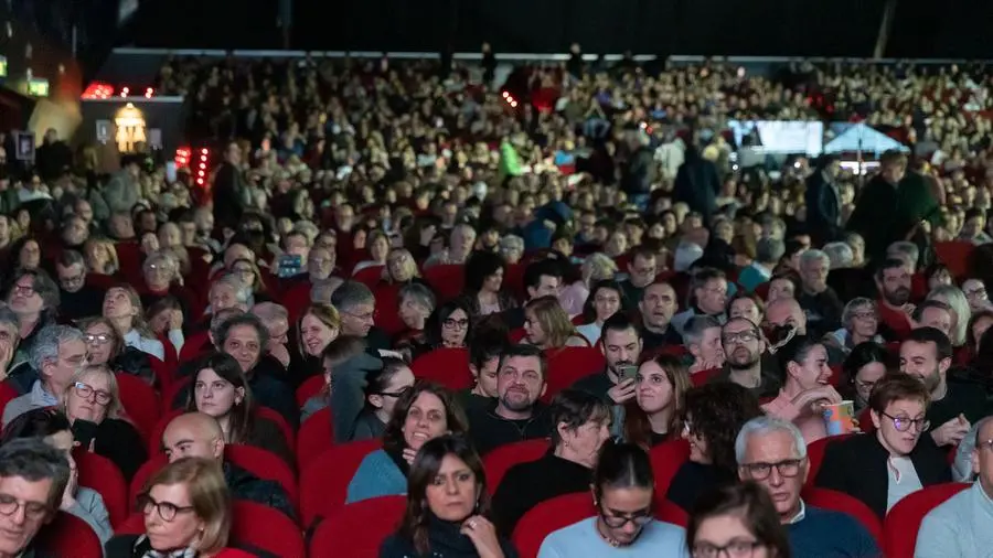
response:
[(972, 422), (990, 415), (982, 389), (948, 377), (952, 346), (948, 335), (935, 328), (918, 328), (900, 345), (900, 372), (921, 380), (931, 394), (928, 420), (931, 438), (939, 447), (955, 446)]

